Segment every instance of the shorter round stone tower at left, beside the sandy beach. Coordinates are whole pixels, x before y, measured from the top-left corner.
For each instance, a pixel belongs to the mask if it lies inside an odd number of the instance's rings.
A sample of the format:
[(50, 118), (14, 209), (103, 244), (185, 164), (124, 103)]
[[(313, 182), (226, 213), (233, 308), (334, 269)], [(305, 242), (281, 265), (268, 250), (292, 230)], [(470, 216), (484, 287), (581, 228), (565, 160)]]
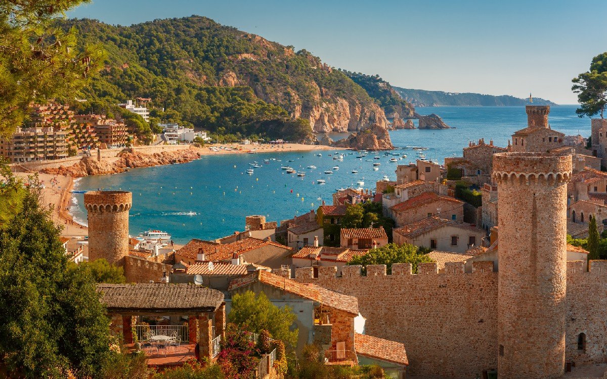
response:
[(129, 209), (131, 192), (90, 191), (84, 193), (89, 213), (89, 262), (106, 258), (117, 263), (129, 254)]

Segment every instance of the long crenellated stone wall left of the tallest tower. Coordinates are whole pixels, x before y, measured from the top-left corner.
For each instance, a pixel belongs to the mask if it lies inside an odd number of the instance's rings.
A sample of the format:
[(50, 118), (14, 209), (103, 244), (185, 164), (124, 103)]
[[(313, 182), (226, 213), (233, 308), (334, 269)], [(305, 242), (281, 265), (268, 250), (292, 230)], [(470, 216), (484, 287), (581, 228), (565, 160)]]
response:
[(358, 298), (367, 318), (366, 332), (405, 344), (412, 375), (473, 378), (497, 366), (497, 273), (492, 262), (475, 262), (472, 273), (463, 263), (447, 263), (437, 273), (436, 263), (395, 264), (392, 275), (385, 266), (319, 267), (296, 269), (296, 280), (314, 283)]

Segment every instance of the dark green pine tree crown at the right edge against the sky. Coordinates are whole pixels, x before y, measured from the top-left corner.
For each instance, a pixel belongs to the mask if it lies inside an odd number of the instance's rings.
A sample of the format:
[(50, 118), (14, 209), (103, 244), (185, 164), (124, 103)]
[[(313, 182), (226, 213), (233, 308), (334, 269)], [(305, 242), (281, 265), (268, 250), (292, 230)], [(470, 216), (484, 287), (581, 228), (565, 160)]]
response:
[(572, 79), (571, 90), (577, 93), (581, 104), (575, 110), (580, 117), (592, 117), (597, 113), (603, 118), (607, 106), (607, 52), (592, 58), (590, 69)]

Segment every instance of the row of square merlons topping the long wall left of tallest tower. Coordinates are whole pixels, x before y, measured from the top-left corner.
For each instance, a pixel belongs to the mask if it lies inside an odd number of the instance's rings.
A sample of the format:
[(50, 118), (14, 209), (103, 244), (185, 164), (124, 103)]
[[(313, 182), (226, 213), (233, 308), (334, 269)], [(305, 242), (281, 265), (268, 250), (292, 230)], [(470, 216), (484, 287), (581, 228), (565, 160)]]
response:
[[(362, 275), (362, 266), (343, 266), (341, 277), (337, 276), (337, 267), (317, 267), (317, 276), (314, 277), (312, 267), (301, 267), (295, 269), (295, 280), (308, 281), (310, 279), (331, 280), (339, 278), (358, 278), (358, 277), (425, 277), (430, 275), (471, 275), (473, 273), (493, 273), (493, 261), (472, 262), (472, 273), (464, 272), (464, 262), (446, 262), (445, 268), (438, 272), (436, 262), (418, 263), (418, 273), (412, 273), (412, 264), (395, 263), (392, 265), (392, 275), (387, 274), (385, 264), (369, 264), (367, 266), (367, 275)], [(278, 272), (276, 272), (278, 273)], [(496, 272), (497, 273), (497, 272)]]

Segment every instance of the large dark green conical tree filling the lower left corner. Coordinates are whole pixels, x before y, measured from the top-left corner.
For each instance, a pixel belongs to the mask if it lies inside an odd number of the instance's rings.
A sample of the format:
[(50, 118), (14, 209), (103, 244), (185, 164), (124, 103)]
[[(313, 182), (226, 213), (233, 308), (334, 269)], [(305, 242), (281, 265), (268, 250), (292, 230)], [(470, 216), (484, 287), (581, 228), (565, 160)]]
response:
[(0, 357), (13, 377), (98, 377), (109, 320), (95, 281), (72, 269), (39, 189), (0, 230)]

